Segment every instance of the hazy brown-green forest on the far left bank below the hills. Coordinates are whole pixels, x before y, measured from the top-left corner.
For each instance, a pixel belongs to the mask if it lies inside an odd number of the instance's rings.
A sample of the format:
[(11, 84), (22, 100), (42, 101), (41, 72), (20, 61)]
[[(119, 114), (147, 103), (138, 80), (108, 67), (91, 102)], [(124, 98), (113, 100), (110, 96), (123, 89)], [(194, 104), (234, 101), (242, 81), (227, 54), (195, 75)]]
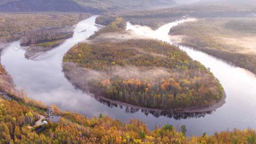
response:
[(59, 12), (1, 13), (0, 43), (8, 43), (22, 37), (20, 45), (29, 46), (25, 54), (29, 58), (72, 37), (73, 26), (89, 16), (84, 13)]

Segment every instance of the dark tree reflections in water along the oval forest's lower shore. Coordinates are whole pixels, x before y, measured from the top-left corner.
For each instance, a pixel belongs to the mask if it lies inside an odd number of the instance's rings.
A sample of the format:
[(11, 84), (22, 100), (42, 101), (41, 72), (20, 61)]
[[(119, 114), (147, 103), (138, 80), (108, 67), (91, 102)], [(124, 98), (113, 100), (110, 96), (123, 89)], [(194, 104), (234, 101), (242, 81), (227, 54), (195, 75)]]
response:
[[(64, 75), (66, 77), (66, 79), (72, 83), (72, 85), (74, 86), (75, 90), (82, 90), (82, 92), (86, 92), (88, 93), (88, 90), (84, 90), (83, 88), (81, 88), (79, 85), (77, 85), (76, 83), (72, 82), (72, 80), (65, 74)], [(95, 91), (93, 93), (96, 93)], [(148, 114), (152, 114), (154, 117), (160, 117), (160, 116), (164, 116), (164, 117), (168, 117), (168, 118), (174, 118), (175, 120), (180, 120), (180, 119), (187, 119), (187, 118), (199, 118), (199, 117), (205, 117), (207, 114), (211, 114), (212, 111), (208, 111), (208, 112), (192, 112), (192, 113), (180, 113), (180, 112), (174, 112), (174, 111), (166, 111), (166, 110), (151, 110), (151, 109), (147, 109), (147, 108), (137, 108), (135, 107), (128, 107), (128, 106), (122, 106), (120, 104), (111, 102), (109, 100), (106, 99), (101, 99), (100, 97), (97, 96), (93, 96), (90, 94), (91, 97), (97, 99), (97, 101), (99, 101), (100, 103), (107, 105), (110, 108), (121, 108), (124, 109), (124, 111), (126, 113), (136, 113), (138, 111), (144, 113), (146, 116)]]

